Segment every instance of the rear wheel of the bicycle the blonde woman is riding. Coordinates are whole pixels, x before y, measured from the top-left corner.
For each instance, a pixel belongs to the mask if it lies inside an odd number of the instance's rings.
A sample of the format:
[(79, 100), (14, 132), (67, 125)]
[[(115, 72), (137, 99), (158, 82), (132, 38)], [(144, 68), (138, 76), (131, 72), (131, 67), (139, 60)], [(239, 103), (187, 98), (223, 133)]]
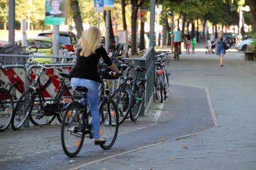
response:
[(61, 145), (68, 157), (75, 157), (81, 150), (85, 132), (82, 129), (83, 106), (77, 101), (69, 103), (61, 124)]

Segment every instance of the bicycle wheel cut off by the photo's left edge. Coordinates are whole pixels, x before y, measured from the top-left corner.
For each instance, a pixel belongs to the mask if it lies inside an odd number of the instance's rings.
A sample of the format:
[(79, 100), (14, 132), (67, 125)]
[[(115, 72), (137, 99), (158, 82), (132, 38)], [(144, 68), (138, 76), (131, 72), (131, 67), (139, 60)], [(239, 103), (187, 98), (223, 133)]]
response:
[(7, 89), (0, 88), (0, 131), (6, 130), (11, 124), (13, 100)]

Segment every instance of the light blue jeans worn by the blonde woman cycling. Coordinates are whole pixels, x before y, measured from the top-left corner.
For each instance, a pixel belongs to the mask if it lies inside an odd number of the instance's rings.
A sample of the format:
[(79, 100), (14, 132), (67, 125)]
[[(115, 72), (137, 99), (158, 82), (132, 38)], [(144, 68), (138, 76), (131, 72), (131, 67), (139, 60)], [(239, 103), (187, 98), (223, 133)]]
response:
[(94, 131), (94, 138), (100, 138), (100, 114), (98, 110), (99, 96), (98, 96), (98, 82), (88, 79), (71, 78), (71, 86), (82, 86), (88, 89), (87, 99), (92, 114), (92, 128)]

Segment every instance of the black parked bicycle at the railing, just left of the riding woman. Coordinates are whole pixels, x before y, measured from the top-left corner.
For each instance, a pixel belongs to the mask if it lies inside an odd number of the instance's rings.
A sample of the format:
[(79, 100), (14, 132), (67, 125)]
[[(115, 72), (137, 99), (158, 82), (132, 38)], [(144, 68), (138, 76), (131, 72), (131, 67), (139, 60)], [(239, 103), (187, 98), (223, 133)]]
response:
[(18, 130), (28, 116), (30, 116), (30, 121), (35, 126), (51, 124), (56, 116), (59, 122), (62, 122), (63, 108), (69, 102), (66, 100), (66, 96), (73, 95), (74, 93), (71, 91), (71, 85), (65, 83), (65, 79), (69, 77), (68, 74), (59, 73), (62, 78), (57, 95), (54, 99), (44, 98), (42, 92), (52, 83), (52, 80), (49, 79), (41, 86), (40, 76), (44, 73), (44, 69), (53, 69), (56, 67), (44, 67), (40, 64), (37, 64), (37, 67), (40, 69), (36, 71), (36, 78), (32, 86), (22, 94), (15, 105), (11, 118), (11, 128), (13, 130)]

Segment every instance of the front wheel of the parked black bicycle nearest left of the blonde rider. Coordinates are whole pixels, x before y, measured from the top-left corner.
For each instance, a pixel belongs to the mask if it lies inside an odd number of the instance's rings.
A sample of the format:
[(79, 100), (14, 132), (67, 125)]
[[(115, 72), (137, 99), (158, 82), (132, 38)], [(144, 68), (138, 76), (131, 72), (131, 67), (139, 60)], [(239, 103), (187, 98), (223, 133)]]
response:
[(20, 127), (22, 127), (32, 112), (34, 103), (33, 92), (34, 91), (32, 89), (28, 89), (28, 91), (23, 93), (20, 99), (17, 101), (13, 111), (13, 116), (11, 118), (11, 128), (13, 128), (13, 130), (18, 130)]

